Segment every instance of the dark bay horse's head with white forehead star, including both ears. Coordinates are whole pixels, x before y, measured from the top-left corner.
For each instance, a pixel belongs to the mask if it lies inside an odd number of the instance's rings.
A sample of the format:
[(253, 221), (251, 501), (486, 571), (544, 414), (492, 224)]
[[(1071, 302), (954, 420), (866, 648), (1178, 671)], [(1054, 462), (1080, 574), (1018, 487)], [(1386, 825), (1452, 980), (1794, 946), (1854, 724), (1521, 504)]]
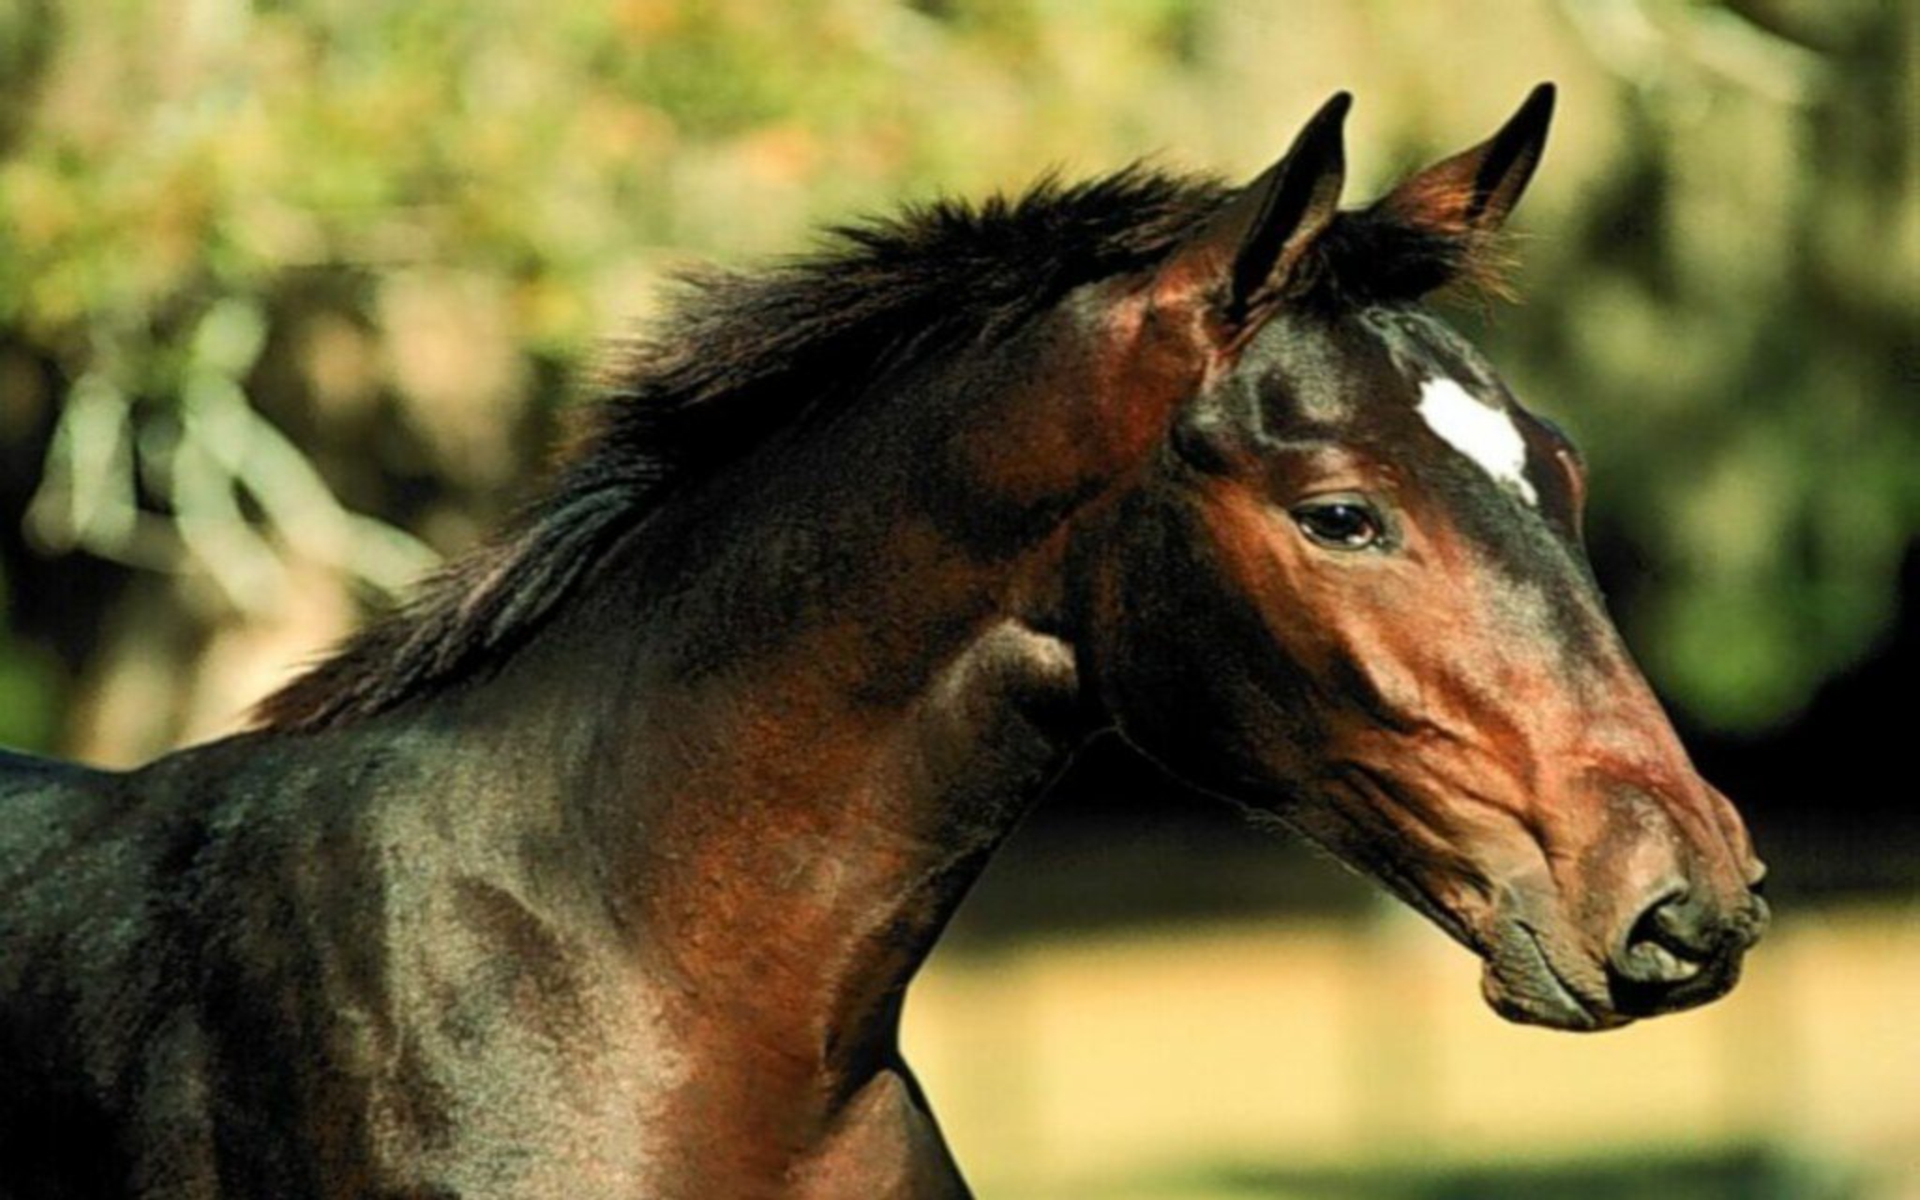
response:
[(1551, 102), (1340, 211), (1336, 96), (1083, 303), (1116, 411), (1179, 396), (1071, 589), (1137, 747), (1430, 916), (1503, 1016), (1603, 1029), (1732, 987), (1764, 868), (1607, 616), (1580, 455), (1421, 303), (1486, 259)]

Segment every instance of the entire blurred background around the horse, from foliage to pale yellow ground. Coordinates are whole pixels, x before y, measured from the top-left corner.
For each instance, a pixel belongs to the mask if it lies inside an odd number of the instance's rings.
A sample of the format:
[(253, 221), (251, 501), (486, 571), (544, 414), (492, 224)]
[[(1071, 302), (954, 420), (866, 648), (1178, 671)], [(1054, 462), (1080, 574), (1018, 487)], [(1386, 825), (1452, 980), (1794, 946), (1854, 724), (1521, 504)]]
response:
[(1561, 84), (1519, 305), (1628, 641), (1774, 866), (1726, 1002), (1503, 1025), (1089, 751), (908, 1010), (987, 1196), (1920, 1196), (1920, 6), (0, 0), (0, 745), (132, 764), (528, 495), (701, 259), (1357, 94), (1359, 200)]

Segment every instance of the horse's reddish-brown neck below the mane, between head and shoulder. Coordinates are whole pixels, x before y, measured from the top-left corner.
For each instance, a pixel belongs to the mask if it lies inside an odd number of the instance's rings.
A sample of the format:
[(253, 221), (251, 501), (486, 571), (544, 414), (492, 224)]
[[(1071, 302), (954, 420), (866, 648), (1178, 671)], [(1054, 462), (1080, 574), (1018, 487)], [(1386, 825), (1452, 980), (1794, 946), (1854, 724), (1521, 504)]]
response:
[(876, 1066), (954, 906), (1091, 732), (1043, 630), (1098, 467), (1023, 428), (1083, 419), (1031, 399), (929, 386), (766, 447), (660, 513), (545, 664), (501, 676), (520, 707), (553, 685), (564, 718), (532, 728), (574, 747), (559, 803), (684, 1021), (845, 1079)]

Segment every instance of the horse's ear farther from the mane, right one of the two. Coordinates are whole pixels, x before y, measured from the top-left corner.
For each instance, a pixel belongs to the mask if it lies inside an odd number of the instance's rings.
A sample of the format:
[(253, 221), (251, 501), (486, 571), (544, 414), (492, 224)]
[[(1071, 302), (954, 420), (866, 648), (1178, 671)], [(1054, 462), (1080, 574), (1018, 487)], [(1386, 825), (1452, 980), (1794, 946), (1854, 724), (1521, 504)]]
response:
[(1407, 177), (1380, 207), (1409, 225), (1444, 232), (1496, 230), (1540, 165), (1553, 119), (1553, 84), (1542, 83), (1500, 132)]

